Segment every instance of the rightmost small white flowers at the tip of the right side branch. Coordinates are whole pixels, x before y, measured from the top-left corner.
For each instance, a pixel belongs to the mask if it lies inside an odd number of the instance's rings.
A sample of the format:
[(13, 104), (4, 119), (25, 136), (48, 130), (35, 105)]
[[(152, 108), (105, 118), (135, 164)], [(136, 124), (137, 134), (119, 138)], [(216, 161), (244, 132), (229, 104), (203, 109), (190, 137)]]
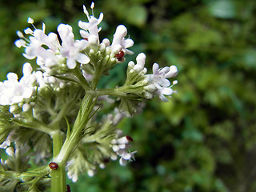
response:
[(166, 66), (162, 69), (159, 69), (157, 63), (153, 65), (153, 74), (146, 74), (146, 80), (149, 82), (149, 85), (144, 89), (150, 93), (155, 92), (163, 102), (168, 102), (168, 99), (165, 95), (170, 96), (174, 93), (170, 81), (166, 78), (174, 78), (178, 74), (176, 66)]

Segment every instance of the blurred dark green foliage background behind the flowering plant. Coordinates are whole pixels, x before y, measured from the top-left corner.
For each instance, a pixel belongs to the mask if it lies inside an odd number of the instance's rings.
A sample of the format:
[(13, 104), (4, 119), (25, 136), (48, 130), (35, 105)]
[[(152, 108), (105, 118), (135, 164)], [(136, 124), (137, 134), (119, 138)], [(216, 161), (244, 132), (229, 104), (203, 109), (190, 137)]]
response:
[[(178, 67), (170, 102), (149, 102), (142, 114), (120, 128), (134, 138), (136, 161), (71, 183), (71, 191), (254, 192), (256, 191), (256, 2), (254, 0), (95, 0), (104, 13), (101, 38), (124, 24), (134, 40), (134, 59), (146, 66)], [(87, 21), (90, 1), (0, 1), (0, 78), (22, 72), (16, 30), (34, 18), (46, 33)], [(79, 37), (79, 35), (77, 36)], [(126, 64), (111, 71), (111, 85), (123, 82)]]

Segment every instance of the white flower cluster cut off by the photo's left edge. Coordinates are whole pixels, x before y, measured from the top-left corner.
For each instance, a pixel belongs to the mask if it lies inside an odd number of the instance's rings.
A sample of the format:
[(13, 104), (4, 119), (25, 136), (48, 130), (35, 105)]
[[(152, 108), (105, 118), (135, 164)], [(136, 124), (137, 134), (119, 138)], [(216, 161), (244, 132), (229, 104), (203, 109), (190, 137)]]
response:
[[(18, 81), (18, 75), (9, 73), (7, 80), (0, 82), (0, 105), (9, 106), (10, 113), (26, 112), (34, 106), (36, 94), (46, 86), (60, 90), (66, 83), (41, 71), (33, 71), (30, 63), (23, 65), (23, 76)], [(14, 115), (15, 116), (15, 115)]]

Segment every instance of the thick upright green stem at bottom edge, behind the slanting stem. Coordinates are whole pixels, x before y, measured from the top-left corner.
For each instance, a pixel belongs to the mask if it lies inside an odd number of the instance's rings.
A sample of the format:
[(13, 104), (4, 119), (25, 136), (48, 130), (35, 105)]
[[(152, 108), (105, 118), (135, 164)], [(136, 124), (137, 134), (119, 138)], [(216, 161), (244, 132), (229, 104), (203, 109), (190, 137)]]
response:
[[(52, 135), (53, 138), (53, 154), (56, 158), (62, 149), (63, 134), (62, 131), (56, 130)], [(58, 162), (58, 168), (51, 170), (51, 192), (65, 192), (66, 191), (66, 172), (65, 165)]]

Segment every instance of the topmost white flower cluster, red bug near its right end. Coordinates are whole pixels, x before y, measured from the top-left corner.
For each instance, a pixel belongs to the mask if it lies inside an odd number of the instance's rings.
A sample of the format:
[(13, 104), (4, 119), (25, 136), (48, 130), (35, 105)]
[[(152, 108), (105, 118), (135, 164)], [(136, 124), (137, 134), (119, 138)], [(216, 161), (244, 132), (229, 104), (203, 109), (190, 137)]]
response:
[[(93, 8), (94, 2), (91, 6), (91, 9)], [(21, 39), (17, 40), (15, 45), (25, 47), (25, 54), (23, 55), (28, 59), (37, 58), (38, 66), (41, 66), (42, 70), (48, 74), (51, 74), (51, 69), (54, 67), (72, 70), (78, 63), (81, 65), (89, 63), (89, 55), (94, 52), (95, 46), (98, 46), (100, 50), (105, 50), (110, 58), (114, 58), (114, 61), (123, 61), (126, 54), (133, 54), (132, 51), (127, 50), (134, 45), (134, 42), (130, 38), (125, 38), (127, 34), (125, 26), (117, 27), (111, 45), (107, 38), (100, 43), (98, 32), (101, 28), (98, 28), (98, 24), (102, 22), (103, 14), (101, 13), (99, 18), (95, 18), (94, 15), (89, 15), (86, 6), (84, 6), (84, 13), (89, 22), (78, 22), (78, 26), (82, 28), (80, 34), (83, 39), (81, 40), (74, 40), (71, 26), (60, 24), (57, 30), (62, 42), (59, 42), (57, 34), (45, 34), (46, 26), (42, 24), (42, 30), (35, 27), (34, 31), (30, 28), (24, 30), (25, 34), (31, 35), (29, 39), (18, 31), (18, 36)], [(33, 25), (34, 20), (29, 18), (28, 22)]]

